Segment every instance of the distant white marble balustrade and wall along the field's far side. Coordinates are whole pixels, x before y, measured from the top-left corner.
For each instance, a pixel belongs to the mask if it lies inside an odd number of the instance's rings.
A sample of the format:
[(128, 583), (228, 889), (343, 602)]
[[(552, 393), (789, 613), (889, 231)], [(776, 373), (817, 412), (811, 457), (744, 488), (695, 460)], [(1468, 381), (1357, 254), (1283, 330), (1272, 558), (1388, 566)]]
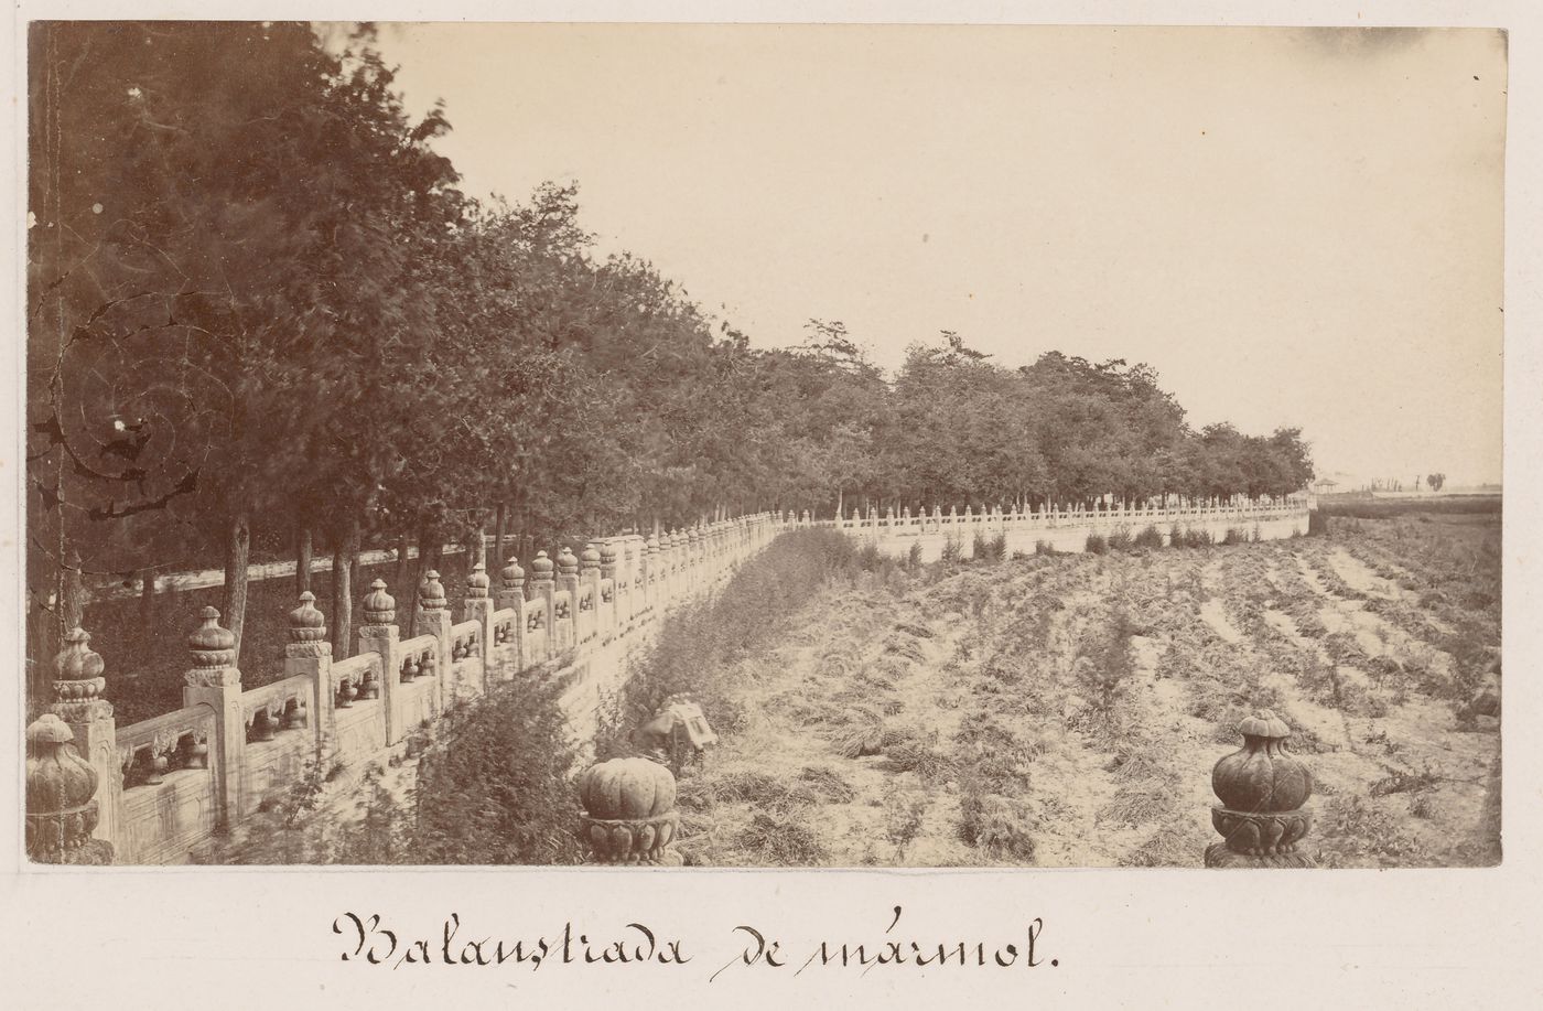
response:
[(1043, 509), (1031, 511), (1001, 506), (972, 509), (949, 506), (947, 512), (934, 506), (930, 512), (912, 516), (909, 508), (895, 512), (893, 508), (880, 514), (870, 508), (864, 516), (853, 509), (850, 516), (835, 520), (812, 520), (807, 512), (798, 517), (798, 526), (835, 526), (863, 543), (876, 546), (884, 554), (906, 557), (912, 545), (921, 545), (921, 560), (935, 562), (943, 557), (950, 542), (960, 557), (974, 557), (977, 537), (1004, 539), (1009, 554), (1034, 554), (1035, 551), (1085, 551), (1088, 537), (1128, 534), (1136, 537), (1148, 526), (1154, 528), (1171, 545), (1173, 536), (1204, 531), (1214, 543), (1222, 543), (1228, 533), (1247, 540), (1282, 540), (1307, 533), (1307, 517), (1315, 508), (1310, 495), (1250, 502), (1236, 499), (1219, 505), (1140, 505), (1113, 506), (1108, 509)]

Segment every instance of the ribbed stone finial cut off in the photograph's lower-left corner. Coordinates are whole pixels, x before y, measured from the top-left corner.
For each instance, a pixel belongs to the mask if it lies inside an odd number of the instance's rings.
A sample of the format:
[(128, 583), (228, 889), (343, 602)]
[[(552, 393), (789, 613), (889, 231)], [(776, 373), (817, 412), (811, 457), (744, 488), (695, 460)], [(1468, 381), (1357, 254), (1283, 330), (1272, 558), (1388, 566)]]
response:
[(26, 855), (37, 863), (110, 864), (113, 844), (93, 838), (102, 776), (74, 739), (57, 713), (43, 713), (26, 729)]

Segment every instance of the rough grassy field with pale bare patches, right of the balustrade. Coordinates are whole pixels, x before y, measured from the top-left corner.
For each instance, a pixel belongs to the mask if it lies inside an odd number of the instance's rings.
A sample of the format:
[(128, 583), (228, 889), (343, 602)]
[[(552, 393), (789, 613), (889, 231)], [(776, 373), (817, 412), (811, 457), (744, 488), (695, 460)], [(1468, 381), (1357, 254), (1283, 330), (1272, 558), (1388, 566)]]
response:
[(1498, 685), (1498, 525), (1355, 523), (1239, 529), (1225, 551), (1150, 551), (1139, 531), (1129, 551), (898, 585), (838, 573), (756, 664), (765, 681), (733, 681), (756, 719), (714, 762), (761, 775), (690, 772), (682, 846), (750, 866), (1193, 867), (1216, 838), (1211, 766), (1271, 708), (1318, 783), (1321, 864), (1492, 863), (1480, 710), (1498, 687), (1458, 699)]

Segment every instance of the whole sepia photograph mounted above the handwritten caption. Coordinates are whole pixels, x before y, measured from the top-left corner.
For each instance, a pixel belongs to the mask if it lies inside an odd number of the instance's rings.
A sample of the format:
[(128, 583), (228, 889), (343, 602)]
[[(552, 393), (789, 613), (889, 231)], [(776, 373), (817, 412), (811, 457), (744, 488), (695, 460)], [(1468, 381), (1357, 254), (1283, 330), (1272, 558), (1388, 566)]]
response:
[(1498, 866), (1508, 45), (26, 23), (19, 858)]

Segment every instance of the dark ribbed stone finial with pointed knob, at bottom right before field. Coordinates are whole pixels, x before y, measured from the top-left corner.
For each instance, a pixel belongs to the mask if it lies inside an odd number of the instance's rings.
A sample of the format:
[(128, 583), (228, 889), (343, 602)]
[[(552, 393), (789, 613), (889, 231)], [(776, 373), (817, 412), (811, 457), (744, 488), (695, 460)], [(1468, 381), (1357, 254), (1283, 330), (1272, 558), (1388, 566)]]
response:
[(1205, 850), (1207, 867), (1312, 867), (1298, 852), (1312, 829), (1305, 804), (1313, 776), (1285, 744), (1291, 729), (1270, 710), (1237, 724), (1244, 746), (1216, 762), (1211, 789), (1221, 804), (1211, 824), (1222, 835)]

